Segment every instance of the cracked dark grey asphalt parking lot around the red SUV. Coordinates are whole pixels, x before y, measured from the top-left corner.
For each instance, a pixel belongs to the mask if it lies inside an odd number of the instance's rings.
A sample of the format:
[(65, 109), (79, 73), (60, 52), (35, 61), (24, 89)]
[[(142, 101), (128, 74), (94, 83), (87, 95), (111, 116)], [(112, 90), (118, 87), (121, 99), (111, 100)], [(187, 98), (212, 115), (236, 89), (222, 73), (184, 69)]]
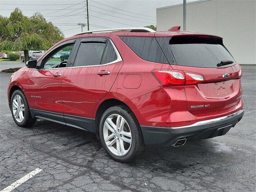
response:
[(0, 73), (0, 192), (35, 170), (19, 192), (254, 191), (256, 70), (243, 67), (242, 120), (224, 136), (181, 147), (147, 147), (137, 161), (110, 159), (94, 134), (46, 120), (18, 127), (8, 107), (11, 74)]

